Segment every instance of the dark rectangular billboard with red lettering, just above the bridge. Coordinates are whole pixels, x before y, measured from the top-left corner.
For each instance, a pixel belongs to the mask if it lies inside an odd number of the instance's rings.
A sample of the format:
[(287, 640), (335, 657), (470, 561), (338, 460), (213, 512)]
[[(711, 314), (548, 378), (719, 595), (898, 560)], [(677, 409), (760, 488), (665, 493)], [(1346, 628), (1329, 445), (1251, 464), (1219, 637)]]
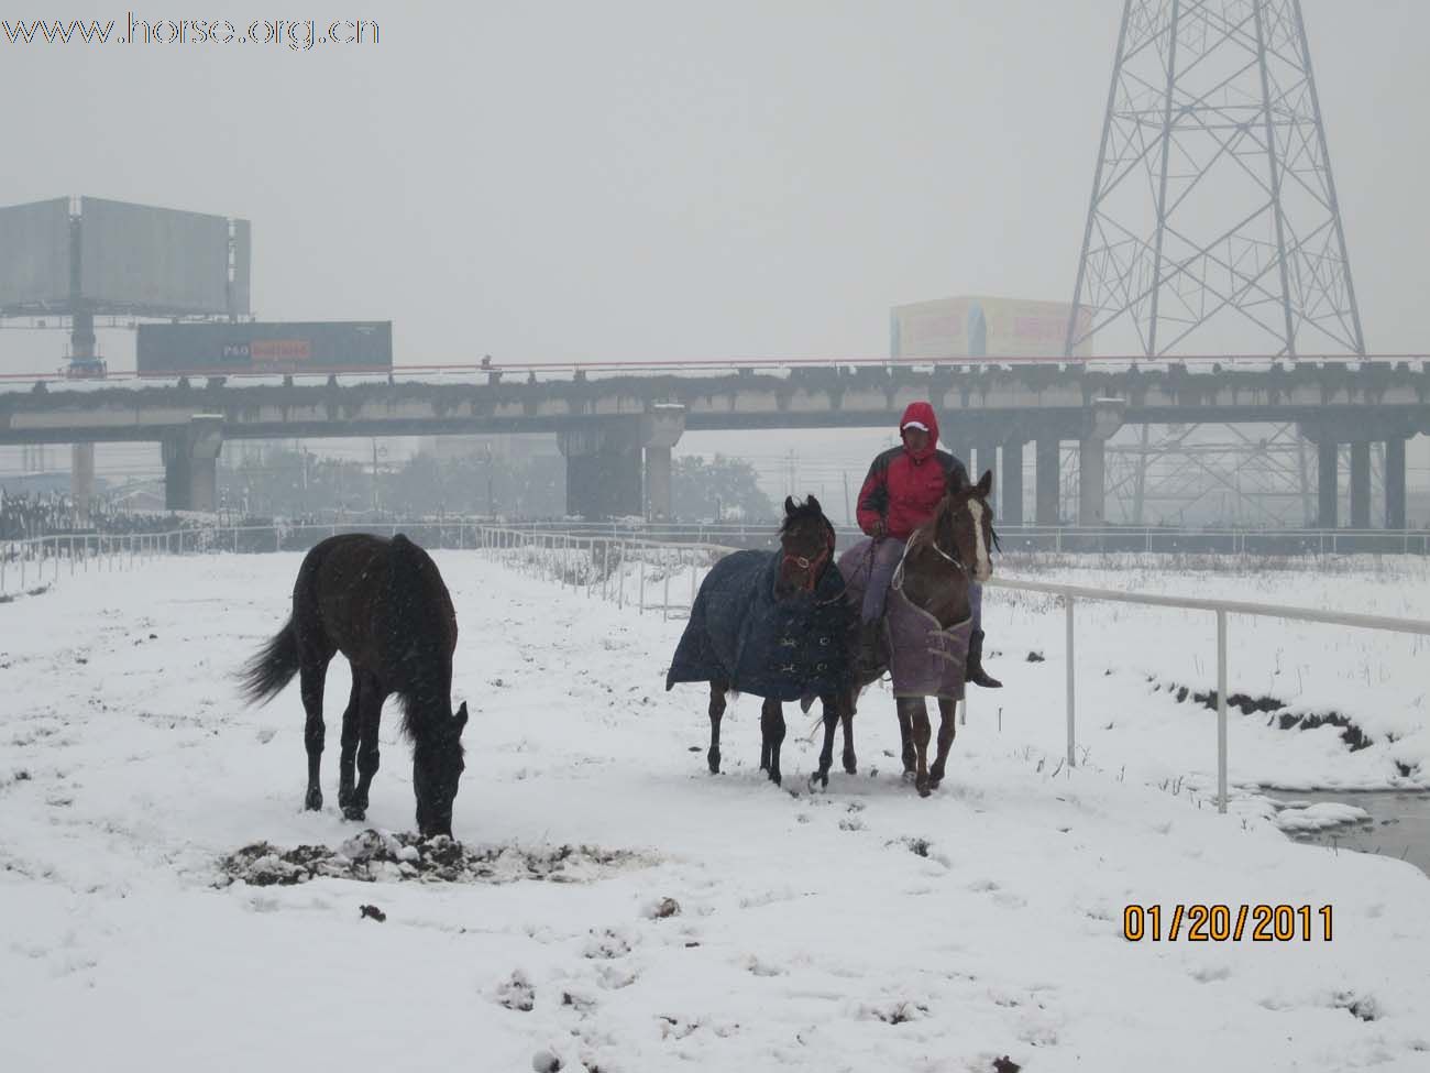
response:
[(140, 325), (140, 375), (385, 372), (390, 320)]

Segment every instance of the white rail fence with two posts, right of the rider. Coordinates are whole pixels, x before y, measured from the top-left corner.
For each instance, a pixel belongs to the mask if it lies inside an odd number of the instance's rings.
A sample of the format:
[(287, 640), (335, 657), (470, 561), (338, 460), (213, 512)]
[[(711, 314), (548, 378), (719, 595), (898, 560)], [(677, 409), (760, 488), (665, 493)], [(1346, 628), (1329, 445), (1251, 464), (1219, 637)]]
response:
[(1187, 611), (1211, 611), (1217, 617), (1217, 811), (1227, 811), (1227, 615), (1253, 615), (1258, 618), (1284, 618), (1300, 622), (1323, 622), (1328, 625), (1354, 627), (1358, 629), (1386, 629), (1397, 634), (1419, 634), (1430, 637), (1430, 621), (1419, 618), (1391, 618), (1387, 615), (1361, 615), (1346, 611), (1317, 611), (1316, 608), (1288, 607), (1284, 604), (1250, 604), (1236, 599), (1200, 599), (1195, 597), (1163, 597), (1144, 592), (1125, 592), (1111, 588), (1088, 588), (1085, 585), (1062, 585), (1052, 581), (1028, 581), (1024, 578), (994, 577), (988, 588), (1004, 588), (1018, 592), (1047, 592), (1062, 598), (1067, 621), (1067, 763), (1077, 765), (1075, 717), (1075, 647), (1074, 607), (1080, 599), (1117, 604), (1143, 604), (1147, 607), (1168, 607)]

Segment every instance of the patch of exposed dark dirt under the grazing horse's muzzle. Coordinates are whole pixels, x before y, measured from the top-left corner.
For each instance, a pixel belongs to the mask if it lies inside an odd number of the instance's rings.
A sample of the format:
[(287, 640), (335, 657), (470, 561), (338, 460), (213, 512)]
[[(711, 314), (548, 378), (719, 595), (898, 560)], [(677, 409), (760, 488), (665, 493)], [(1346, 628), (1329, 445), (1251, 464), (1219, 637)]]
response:
[(646, 867), (652, 854), (598, 846), (463, 846), (446, 837), (383, 834), (366, 830), (336, 850), (299, 846), (282, 850), (253, 843), (219, 860), (214, 886), (292, 886), (330, 877), (359, 883), (589, 883), (621, 868)]

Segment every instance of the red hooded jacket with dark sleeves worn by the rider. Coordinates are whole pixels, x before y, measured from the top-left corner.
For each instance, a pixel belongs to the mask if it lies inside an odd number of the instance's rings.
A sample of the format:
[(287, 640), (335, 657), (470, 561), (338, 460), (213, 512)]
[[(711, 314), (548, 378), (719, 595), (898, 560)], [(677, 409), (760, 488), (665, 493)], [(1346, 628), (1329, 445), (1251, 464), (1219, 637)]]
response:
[(874, 524), (882, 519), (889, 536), (907, 541), (914, 529), (934, 516), (944, 492), (968, 486), (964, 464), (947, 451), (938, 451), (934, 408), (927, 402), (908, 403), (898, 422), (901, 436), (911, 421), (928, 426), (928, 446), (917, 455), (904, 444), (882, 452), (859, 488), (859, 528), (869, 536), (874, 535)]

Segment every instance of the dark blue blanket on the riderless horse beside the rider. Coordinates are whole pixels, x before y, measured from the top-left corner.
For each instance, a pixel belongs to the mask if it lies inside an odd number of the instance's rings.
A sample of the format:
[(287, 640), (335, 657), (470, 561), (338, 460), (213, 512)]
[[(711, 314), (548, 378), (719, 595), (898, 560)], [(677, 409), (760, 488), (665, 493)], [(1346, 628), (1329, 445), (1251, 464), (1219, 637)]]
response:
[(728, 681), (736, 692), (775, 701), (811, 700), (848, 688), (845, 638), (852, 618), (834, 564), (814, 592), (775, 597), (779, 552), (736, 551), (701, 582), (665, 688)]

